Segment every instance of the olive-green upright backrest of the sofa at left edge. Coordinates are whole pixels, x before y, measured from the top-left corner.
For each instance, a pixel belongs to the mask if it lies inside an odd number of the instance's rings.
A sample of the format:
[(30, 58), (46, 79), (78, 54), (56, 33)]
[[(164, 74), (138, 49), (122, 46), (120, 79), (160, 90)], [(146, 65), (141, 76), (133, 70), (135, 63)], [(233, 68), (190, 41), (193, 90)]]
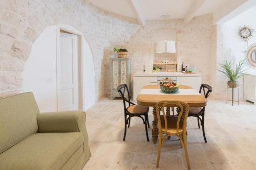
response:
[(37, 132), (38, 113), (32, 92), (0, 99), (0, 154)]

